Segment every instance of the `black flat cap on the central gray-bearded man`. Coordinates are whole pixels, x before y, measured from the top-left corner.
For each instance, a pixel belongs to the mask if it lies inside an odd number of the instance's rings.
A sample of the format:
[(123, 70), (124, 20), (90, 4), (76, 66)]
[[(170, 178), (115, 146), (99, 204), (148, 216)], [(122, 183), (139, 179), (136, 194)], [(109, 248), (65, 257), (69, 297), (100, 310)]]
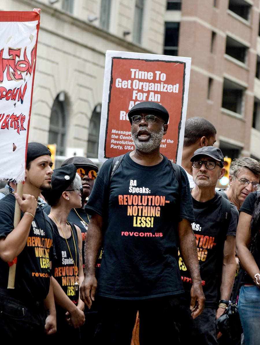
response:
[(156, 102), (140, 102), (137, 103), (133, 108), (128, 112), (128, 118), (132, 125), (132, 117), (134, 115), (139, 115), (140, 112), (145, 112), (149, 115), (159, 115), (166, 124), (169, 121), (169, 113), (168, 111), (159, 103)]

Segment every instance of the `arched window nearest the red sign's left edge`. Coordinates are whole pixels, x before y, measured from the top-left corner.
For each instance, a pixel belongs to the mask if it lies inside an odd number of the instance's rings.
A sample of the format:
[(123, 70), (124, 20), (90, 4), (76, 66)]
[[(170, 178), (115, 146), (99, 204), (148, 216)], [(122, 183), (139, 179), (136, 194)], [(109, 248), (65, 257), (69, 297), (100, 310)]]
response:
[(94, 111), (89, 124), (88, 154), (89, 158), (98, 158), (98, 142), (101, 119), (101, 104), (98, 104)]

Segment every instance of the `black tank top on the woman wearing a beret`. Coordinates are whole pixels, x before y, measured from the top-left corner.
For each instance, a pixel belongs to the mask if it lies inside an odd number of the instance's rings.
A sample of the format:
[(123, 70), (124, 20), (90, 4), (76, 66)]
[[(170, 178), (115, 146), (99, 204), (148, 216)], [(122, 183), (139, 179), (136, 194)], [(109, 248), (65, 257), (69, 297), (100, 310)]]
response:
[[(60, 236), (58, 228), (52, 219), (51, 222), (54, 229), (54, 248), (56, 250), (56, 258), (52, 260), (52, 275), (62, 287), (69, 299), (77, 305), (79, 300), (79, 246), (77, 230), (74, 224), (68, 222), (73, 231), (77, 250), (76, 263), (76, 252), (72, 234), (69, 238), (67, 238), (67, 242), (70, 247), (69, 251), (66, 239)], [(76, 265), (76, 272), (70, 252)], [(78, 290), (76, 290), (74, 287), (76, 276), (78, 281)]]

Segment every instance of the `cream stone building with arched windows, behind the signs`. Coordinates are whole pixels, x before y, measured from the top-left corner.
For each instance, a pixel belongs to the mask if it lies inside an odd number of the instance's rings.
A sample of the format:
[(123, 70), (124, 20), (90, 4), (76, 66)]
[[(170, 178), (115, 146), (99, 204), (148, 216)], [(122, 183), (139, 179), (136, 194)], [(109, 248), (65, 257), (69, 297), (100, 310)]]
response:
[(4, 11), (41, 8), (29, 141), (57, 144), (60, 161), (67, 148), (97, 157), (106, 50), (161, 53), (165, 6), (165, 0), (0, 0)]

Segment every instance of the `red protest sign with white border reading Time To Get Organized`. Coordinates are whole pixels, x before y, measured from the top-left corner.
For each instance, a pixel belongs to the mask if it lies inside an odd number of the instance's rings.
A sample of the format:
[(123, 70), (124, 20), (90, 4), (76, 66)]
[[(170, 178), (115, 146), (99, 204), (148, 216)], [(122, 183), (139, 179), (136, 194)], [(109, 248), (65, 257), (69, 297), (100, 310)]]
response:
[(190, 58), (108, 50), (104, 73), (99, 162), (134, 150), (128, 111), (153, 101), (169, 112), (160, 152), (181, 164)]

